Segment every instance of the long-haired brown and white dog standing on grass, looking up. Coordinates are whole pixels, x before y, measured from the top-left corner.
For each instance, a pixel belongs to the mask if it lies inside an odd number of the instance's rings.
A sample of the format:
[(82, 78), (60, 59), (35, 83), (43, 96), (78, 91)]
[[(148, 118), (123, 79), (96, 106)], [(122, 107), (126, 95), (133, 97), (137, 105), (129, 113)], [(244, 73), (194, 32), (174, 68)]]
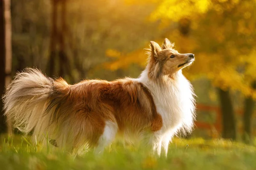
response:
[[(147, 141), (165, 154), (172, 137), (191, 132), (195, 118), (192, 85), (182, 69), (194, 54), (180, 54), (165, 39), (151, 41), (148, 65), (137, 79), (84, 80), (69, 85), (38, 69), (17, 73), (3, 96), (5, 115), (38, 141), (79, 152), (104, 150), (116, 136)], [(47, 138), (48, 136), (48, 138)]]

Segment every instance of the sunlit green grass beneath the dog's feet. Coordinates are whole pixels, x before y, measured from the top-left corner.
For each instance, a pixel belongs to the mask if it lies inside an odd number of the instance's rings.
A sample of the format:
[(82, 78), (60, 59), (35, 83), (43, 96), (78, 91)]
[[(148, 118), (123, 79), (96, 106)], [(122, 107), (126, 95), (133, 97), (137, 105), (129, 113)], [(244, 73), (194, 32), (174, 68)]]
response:
[(256, 170), (256, 147), (224, 140), (174, 139), (168, 158), (113, 144), (101, 156), (42, 150), (21, 136), (1, 136), (0, 170)]

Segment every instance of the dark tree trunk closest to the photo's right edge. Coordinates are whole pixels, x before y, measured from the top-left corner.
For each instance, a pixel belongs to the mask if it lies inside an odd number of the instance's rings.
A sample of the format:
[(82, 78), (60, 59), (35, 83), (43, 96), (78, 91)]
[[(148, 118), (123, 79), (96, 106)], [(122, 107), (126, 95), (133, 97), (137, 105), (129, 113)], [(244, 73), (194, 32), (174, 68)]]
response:
[[(256, 89), (256, 81), (253, 82), (252, 88)], [(251, 142), (252, 135), (252, 126), (251, 126), (251, 118), (253, 115), (253, 108), (255, 105), (255, 101), (251, 96), (246, 97), (244, 99), (244, 142)]]

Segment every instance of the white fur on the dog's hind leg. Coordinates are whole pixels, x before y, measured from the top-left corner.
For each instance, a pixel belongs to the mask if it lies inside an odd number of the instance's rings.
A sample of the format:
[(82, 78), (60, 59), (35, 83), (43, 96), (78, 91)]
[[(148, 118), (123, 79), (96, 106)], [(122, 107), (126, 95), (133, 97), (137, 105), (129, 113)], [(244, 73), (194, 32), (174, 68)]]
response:
[(118, 126), (116, 123), (111, 121), (106, 122), (104, 132), (99, 138), (99, 144), (94, 149), (95, 154), (103, 153), (105, 147), (111, 144), (111, 142), (113, 142), (113, 140), (115, 139), (117, 130)]

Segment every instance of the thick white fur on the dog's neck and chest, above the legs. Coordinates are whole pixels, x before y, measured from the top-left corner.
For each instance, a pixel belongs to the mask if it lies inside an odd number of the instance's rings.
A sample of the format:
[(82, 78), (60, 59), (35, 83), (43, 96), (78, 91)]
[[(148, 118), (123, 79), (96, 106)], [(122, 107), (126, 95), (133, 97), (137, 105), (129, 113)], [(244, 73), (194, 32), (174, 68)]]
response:
[(173, 79), (163, 77), (163, 82), (148, 79), (144, 71), (137, 81), (142, 82), (150, 91), (162, 116), (162, 133), (190, 132), (195, 117), (195, 99), (192, 85), (179, 71)]

